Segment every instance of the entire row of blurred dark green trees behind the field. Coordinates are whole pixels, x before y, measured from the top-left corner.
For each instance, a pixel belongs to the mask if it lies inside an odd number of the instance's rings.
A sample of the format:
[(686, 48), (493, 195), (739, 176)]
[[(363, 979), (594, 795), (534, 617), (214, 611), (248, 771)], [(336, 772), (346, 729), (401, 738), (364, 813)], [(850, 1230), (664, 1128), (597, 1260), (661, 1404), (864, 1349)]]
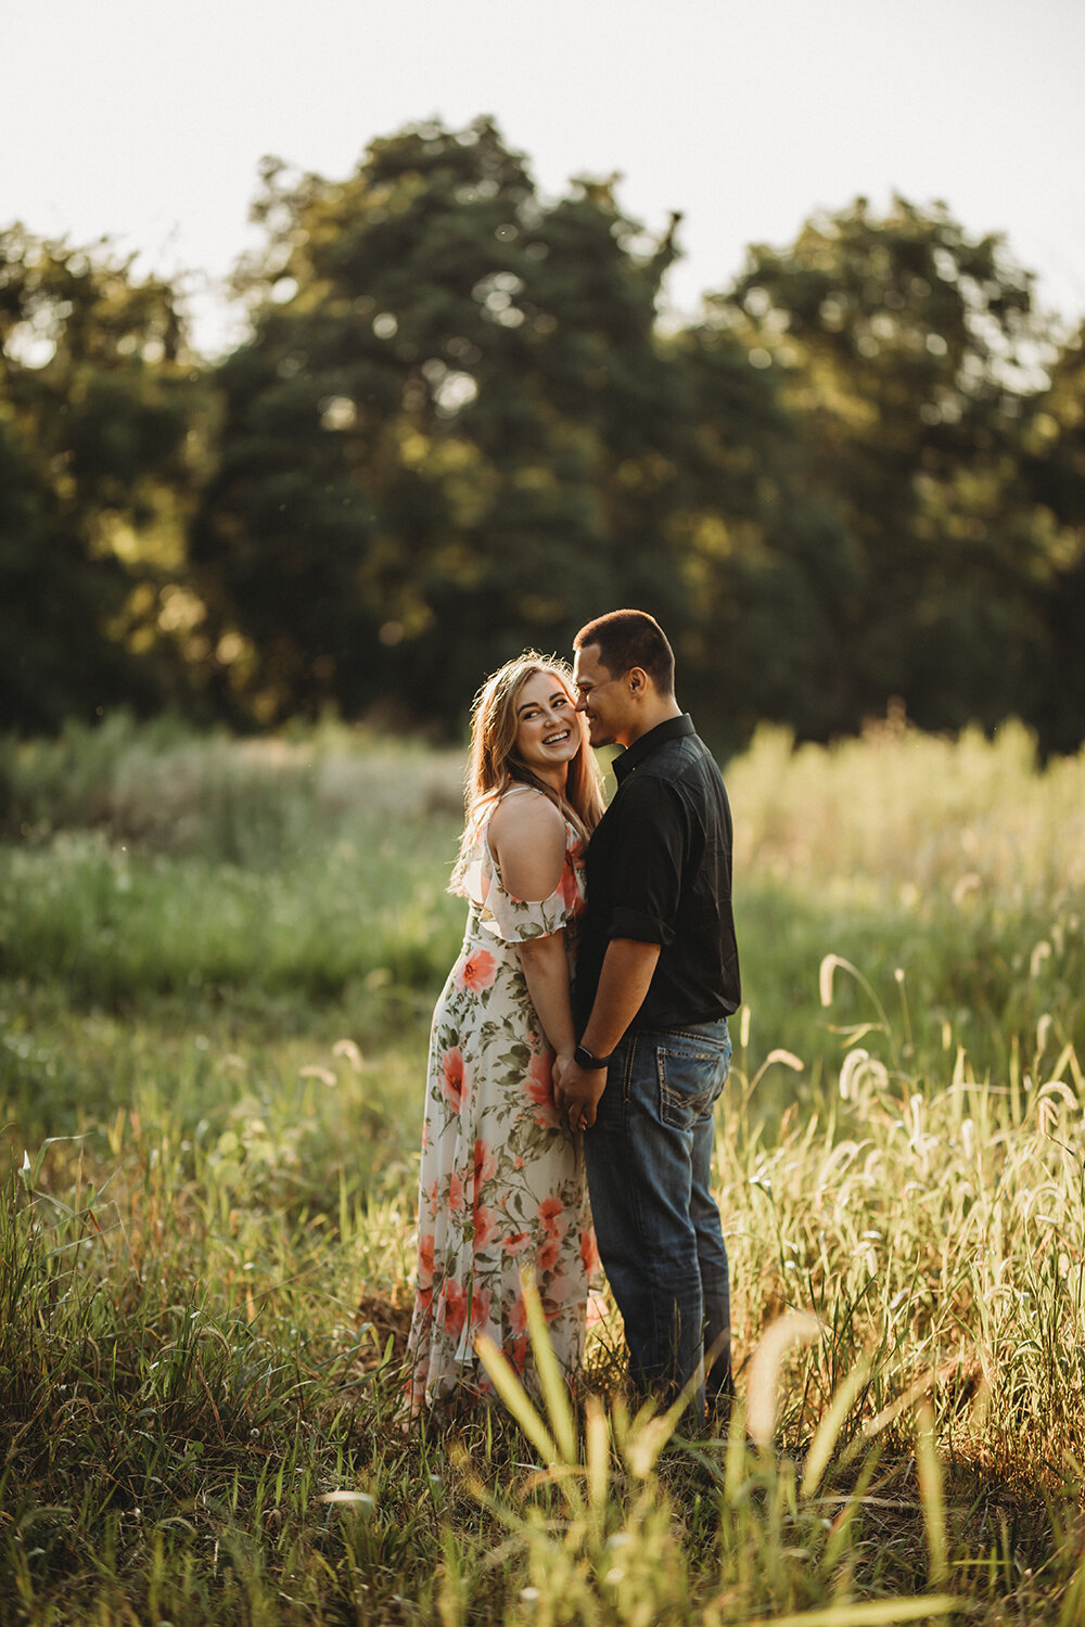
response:
[(1085, 737), (1085, 330), (997, 236), (864, 200), (696, 321), (615, 179), (491, 120), (268, 161), (211, 364), (109, 244), (0, 233), (0, 727), (117, 703), (459, 731), (481, 675), (652, 610), (721, 748), (901, 701)]

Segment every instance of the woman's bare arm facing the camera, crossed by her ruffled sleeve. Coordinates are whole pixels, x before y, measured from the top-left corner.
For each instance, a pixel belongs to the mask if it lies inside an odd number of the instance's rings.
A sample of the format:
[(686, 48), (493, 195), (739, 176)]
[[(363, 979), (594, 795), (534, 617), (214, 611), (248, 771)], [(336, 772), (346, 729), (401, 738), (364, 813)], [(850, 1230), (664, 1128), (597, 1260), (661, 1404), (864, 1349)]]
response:
[[(490, 822), (490, 851), (506, 892), (529, 901), (550, 898), (564, 869), (564, 820), (547, 797), (521, 794), (504, 800)], [(527, 939), (516, 952), (551, 1049), (571, 1058), (576, 1033), (564, 932)]]

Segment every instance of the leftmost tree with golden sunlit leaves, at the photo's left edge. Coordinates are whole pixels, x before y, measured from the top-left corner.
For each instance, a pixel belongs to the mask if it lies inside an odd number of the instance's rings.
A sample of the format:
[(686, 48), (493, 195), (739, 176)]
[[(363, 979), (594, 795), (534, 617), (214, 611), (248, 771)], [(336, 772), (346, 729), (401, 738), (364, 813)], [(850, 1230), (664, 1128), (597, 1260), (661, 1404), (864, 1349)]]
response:
[(181, 347), (172, 290), (137, 281), (106, 246), (0, 233), (8, 727), (151, 709), (176, 691), (158, 613), (184, 556), (194, 390)]

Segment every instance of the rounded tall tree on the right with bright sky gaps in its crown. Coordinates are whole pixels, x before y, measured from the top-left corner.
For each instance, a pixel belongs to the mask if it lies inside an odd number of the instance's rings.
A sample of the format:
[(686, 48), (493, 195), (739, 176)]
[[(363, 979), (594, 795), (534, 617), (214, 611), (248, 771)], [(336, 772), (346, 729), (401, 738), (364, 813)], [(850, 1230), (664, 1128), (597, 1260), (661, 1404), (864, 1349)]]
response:
[(1043, 711), (1052, 561), (1022, 454), (1049, 335), (1030, 281), (940, 205), (859, 200), (752, 249), (716, 301), (802, 426), (821, 521), (787, 563), (833, 651), (825, 732), (891, 696), (924, 727)]

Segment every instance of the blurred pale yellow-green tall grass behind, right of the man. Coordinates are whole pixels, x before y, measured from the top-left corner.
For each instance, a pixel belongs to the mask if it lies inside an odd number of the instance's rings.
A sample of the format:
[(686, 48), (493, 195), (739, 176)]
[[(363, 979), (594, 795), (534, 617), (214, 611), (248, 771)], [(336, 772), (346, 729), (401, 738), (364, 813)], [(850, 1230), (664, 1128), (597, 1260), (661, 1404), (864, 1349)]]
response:
[[(750, 1004), (776, 1041), (833, 1062), (810, 1035), (825, 952), (861, 966), (921, 1072), (965, 1045), (1005, 1077), (1048, 1017), (1085, 1032), (1085, 763), (1039, 773), (1010, 724), (950, 742), (900, 724), (831, 750), (761, 732), (729, 770)], [(880, 1015), (857, 984), (838, 1022)]]

